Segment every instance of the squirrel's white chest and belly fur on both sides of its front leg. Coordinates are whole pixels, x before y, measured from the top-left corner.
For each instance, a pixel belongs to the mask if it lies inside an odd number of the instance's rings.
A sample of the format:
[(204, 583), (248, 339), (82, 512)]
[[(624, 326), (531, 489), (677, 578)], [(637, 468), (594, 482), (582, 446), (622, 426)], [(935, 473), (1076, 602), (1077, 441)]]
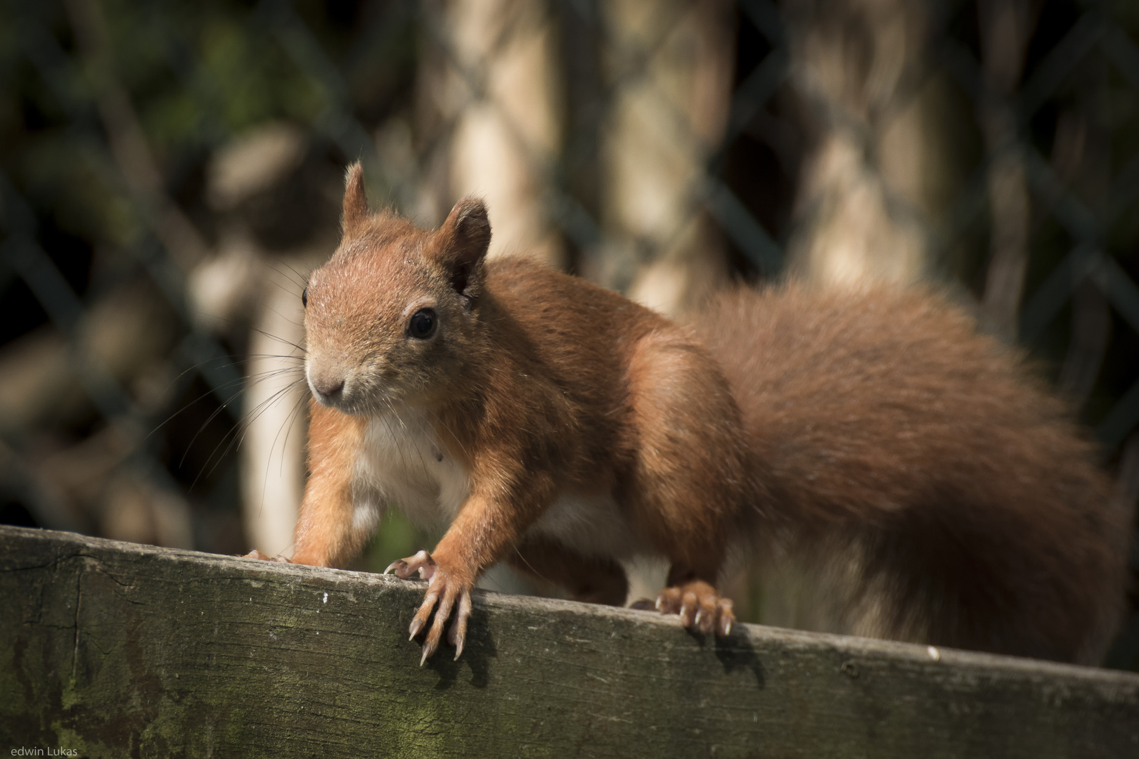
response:
[[(420, 527), (450, 525), (470, 494), (470, 473), (448, 455), (427, 415), (403, 407), (368, 421), (353, 479), (354, 522), (375, 529), (386, 505)], [(649, 553), (612, 495), (563, 493), (527, 535), (554, 538), (584, 555)]]

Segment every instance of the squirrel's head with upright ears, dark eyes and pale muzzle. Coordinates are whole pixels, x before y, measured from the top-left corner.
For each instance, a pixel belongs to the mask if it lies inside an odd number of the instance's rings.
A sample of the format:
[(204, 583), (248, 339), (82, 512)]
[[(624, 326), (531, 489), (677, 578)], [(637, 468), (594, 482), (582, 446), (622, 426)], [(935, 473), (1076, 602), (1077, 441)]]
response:
[(491, 225), (477, 198), (435, 231), (372, 214), (360, 164), (347, 170), (344, 234), (309, 279), (305, 376), (313, 397), (345, 413), (452, 396), (477, 345)]

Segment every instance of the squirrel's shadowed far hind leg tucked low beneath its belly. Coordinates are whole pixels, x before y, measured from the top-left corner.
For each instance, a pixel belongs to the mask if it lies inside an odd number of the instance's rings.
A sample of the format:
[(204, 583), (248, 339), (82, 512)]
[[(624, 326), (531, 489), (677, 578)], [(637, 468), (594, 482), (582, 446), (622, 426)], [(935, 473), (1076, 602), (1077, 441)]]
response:
[(506, 560), (523, 574), (565, 588), (574, 601), (620, 607), (629, 595), (629, 578), (618, 562), (584, 556), (557, 541), (527, 537)]

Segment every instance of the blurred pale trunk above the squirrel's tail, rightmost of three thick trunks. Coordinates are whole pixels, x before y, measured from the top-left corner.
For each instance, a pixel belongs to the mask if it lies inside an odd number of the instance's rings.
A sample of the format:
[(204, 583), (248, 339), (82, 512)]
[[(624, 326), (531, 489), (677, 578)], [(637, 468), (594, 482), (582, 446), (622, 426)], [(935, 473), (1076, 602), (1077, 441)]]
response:
[(793, 85), (806, 104), (796, 229), (798, 275), (833, 284), (909, 282), (929, 267), (928, 228), (950, 181), (944, 81), (927, 76), (928, 6), (787, 0)]

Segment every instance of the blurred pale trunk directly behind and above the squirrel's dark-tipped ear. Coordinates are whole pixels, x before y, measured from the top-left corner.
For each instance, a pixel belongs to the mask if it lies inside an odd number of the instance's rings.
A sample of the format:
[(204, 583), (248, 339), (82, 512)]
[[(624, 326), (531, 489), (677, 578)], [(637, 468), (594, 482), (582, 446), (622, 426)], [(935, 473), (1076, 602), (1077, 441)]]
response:
[(417, 119), (439, 222), (467, 195), (490, 211), (492, 257), (534, 256), (563, 266), (544, 192), (562, 148), (557, 27), (542, 2), (426, 3), (429, 50)]

